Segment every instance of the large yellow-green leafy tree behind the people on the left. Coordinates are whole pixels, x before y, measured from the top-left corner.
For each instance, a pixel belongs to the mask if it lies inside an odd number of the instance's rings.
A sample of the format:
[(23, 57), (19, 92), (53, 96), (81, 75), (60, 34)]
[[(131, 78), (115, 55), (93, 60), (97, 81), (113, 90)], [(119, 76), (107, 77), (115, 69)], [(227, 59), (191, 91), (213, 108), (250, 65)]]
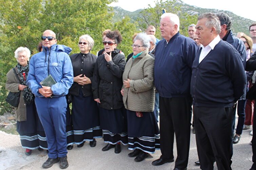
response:
[(46, 29), (56, 33), (58, 44), (79, 52), (78, 38), (89, 34), (95, 41), (92, 53), (102, 48), (101, 33), (112, 28), (112, 7), (116, 0), (0, 0), (0, 113), (11, 111), (5, 102), (6, 73), (17, 64), (14, 51), (27, 47), (37, 53)]

